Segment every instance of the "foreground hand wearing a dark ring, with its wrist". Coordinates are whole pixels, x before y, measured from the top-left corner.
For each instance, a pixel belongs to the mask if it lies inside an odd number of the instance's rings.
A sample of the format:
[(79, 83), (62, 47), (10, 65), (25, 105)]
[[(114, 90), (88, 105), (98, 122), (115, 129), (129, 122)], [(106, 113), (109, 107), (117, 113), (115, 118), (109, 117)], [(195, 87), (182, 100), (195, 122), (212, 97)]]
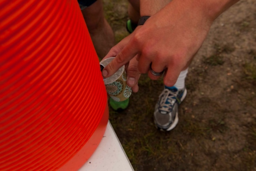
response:
[[(164, 84), (173, 86), (201, 47), (214, 19), (236, 1), (173, 0), (120, 42), (118, 47), (111, 49), (118, 48), (116, 58), (104, 68), (102, 75), (111, 76), (131, 60), (133, 71), (148, 73), (153, 80), (160, 76), (149, 71), (150, 65), (155, 72), (165, 70)], [(129, 70), (127, 74), (130, 74)], [(133, 78), (137, 84), (139, 77)]]

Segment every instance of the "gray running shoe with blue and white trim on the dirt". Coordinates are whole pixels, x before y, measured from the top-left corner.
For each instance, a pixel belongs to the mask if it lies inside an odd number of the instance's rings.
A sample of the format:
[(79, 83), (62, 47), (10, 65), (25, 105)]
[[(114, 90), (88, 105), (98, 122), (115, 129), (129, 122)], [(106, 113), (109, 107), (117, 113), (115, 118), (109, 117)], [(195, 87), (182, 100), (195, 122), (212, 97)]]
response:
[(178, 90), (176, 87), (165, 87), (159, 95), (154, 111), (156, 128), (169, 131), (178, 123), (178, 105), (185, 99), (187, 89)]

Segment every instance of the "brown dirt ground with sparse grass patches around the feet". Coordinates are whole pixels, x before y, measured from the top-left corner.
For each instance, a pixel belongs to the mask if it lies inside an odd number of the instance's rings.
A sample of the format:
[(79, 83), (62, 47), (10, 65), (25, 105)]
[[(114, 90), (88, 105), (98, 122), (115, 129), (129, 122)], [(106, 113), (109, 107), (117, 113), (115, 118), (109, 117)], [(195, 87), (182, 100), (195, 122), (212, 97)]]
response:
[[(117, 42), (128, 35), (127, 0), (104, 0)], [(186, 78), (188, 94), (170, 132), (153, 124), (162, 80), (141, 76), (128, 109), (110, 109), (135, 171), (256, 170), (256, 1), (241, 0), (216, 19)]]

